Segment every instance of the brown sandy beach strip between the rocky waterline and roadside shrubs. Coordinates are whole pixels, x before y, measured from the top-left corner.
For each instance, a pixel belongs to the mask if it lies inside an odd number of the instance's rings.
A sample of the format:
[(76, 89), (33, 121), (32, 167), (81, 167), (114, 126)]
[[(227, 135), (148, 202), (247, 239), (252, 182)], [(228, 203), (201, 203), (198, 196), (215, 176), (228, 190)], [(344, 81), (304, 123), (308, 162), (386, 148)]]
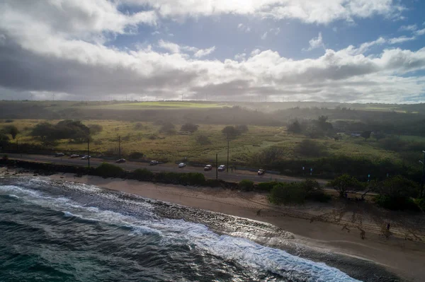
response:
[[(374, 211), (362, 211), (370, 208), (363, 204), (361, 207), (357, 206), (358, 211), (353, 206), (355, 203), (347, 203), (345, 207), (341, 203), (307, 203), (305, 206), (280, 207), (268, 204), (264, 194), (254, 192), (103, 179), (88, 175), (75, 177), (72, 174), (55, 174), (42, 177), (91, 184), (171, 204), (270, 223), (292, 233), (294, 238), (290, 240), (295, 243), (320, 249), (321, 252), (374, 262), (401, 276), (402, 281), (421, 281), (425, 276), (422, 267), (425, 262), (425, 232), (423, 228), (412, 230), (409, 229), (412, 226), (403, 225), (412, 215), (386, 212), (384, 217), (399, 216), (399, 223), (392, 223), (392, 230), (385, 237), (382, 226), (377, 224), (380, 221), (384, 223), (384, 218), (376, 218)], [(424, 223), (423, 214), (414, 216), (414, 223), (418, 222)], [(365, 232), (364, 240), (361, 239), (362, 230)]]

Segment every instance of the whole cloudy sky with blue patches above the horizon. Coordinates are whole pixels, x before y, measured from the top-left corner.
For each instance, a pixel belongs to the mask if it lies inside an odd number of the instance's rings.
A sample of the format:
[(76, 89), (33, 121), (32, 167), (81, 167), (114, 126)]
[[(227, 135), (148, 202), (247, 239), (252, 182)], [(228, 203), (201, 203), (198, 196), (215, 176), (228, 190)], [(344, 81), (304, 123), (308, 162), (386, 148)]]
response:
[(421, 0), (0, 0), (0, 99), (425, 102)]

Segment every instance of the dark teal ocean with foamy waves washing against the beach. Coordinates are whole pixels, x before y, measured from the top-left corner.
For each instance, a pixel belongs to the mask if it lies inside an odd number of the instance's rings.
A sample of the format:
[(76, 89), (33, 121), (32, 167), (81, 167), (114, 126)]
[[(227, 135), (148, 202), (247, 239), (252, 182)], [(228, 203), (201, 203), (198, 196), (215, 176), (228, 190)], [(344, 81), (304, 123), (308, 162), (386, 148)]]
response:
[(358, 281), (250, 240), (259, 223), (232, 217), (248, 227), (227, 232), (227, 221), (220, 230), (164, 216), (183, 209), (86, 184), (3, 177), (0, 281)]

